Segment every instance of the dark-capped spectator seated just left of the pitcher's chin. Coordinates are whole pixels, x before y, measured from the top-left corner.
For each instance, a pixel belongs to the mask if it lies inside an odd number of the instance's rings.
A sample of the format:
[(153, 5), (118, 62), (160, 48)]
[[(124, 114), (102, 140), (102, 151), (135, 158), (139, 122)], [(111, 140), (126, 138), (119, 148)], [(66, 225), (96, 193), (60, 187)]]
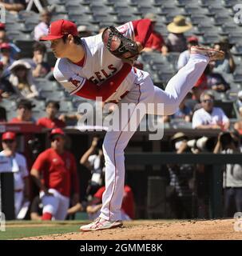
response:
[(33, 48), (34, 48), (33, 58), (32, 59), (26, 58), (24, 60), (30, 63), (34, 78), (45, 77), (46, 74), (50, 72), (50, 65), (47, 62), (44, 62), (44, 58), (46, 54), (46, 45), (42, 42), (35, 42)]

